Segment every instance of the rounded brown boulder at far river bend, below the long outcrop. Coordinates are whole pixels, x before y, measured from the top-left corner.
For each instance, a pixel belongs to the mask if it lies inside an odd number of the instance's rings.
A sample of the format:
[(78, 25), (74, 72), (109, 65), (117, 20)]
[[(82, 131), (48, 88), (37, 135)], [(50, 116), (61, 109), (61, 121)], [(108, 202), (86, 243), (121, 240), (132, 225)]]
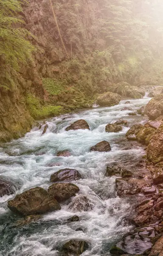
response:
[(101, 107), (111, 107), (117, 105), (121, 100), (121, 96), (117, 93), (103, 93), (98, 95), (97, 97), (97, 104)]

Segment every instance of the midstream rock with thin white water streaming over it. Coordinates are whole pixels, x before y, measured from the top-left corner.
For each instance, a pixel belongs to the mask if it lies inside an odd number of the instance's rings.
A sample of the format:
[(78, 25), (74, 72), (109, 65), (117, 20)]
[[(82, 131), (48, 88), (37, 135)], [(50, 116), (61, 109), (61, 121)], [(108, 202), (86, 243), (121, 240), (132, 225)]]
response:
[(69, 204), (68, 209), (73, 212), (87, 212), (94, 208), (95, 204), (90, 201), (89, 198), (85, 195), (78, 195), (73, 198), (72, 202)]

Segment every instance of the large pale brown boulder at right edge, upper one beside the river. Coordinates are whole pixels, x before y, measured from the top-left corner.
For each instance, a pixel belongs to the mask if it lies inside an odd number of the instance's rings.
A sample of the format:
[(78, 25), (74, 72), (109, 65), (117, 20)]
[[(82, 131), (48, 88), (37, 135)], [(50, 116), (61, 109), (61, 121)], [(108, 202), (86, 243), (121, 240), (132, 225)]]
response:
[(163, 94), (160, 94), (149, 101), (145, 113), (150, 119), (155, 120), (163, 114)]

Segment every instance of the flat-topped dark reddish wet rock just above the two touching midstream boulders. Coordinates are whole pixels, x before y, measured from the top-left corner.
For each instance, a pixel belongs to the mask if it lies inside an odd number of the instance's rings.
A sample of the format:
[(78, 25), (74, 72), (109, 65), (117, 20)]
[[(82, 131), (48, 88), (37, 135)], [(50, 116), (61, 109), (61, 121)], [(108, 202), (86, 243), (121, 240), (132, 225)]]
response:
[(82, 176), (76, 169), (65, 168), (52, 174), (50, 180), (52, 182), (59, 182), (59, 181), (79, 180), (79, 179), (82, 179)]

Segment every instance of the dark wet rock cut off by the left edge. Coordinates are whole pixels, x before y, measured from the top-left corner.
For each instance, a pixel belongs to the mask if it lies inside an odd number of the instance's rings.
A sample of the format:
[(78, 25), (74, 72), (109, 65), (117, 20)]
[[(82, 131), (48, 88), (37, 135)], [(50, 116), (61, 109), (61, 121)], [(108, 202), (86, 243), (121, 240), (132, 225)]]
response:
[(8, 180), (4, 180), (0, 178), (0, 197), (3, 195), (11, 195), (14, 194), (16, 187), (14, 184)]

